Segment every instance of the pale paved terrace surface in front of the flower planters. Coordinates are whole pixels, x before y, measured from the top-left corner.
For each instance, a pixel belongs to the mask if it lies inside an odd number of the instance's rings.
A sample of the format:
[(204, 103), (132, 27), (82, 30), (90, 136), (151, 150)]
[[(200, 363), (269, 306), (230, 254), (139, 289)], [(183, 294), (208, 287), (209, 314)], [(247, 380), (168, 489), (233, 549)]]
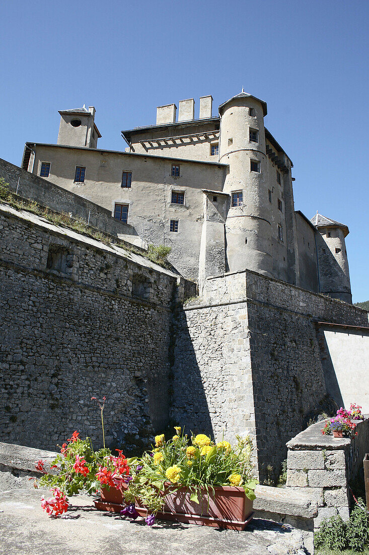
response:
[(42, 490), (0, 493), (0, 553), (48, 555), (305, 555), (300, 531), (254, 519), (243, 532), (196, 524), (158, 521), (149, 528), (142, 518), (130, 522), (98, 511), (90, 496), (73, 496), (67, 513), (50, 518), (40, 506)]

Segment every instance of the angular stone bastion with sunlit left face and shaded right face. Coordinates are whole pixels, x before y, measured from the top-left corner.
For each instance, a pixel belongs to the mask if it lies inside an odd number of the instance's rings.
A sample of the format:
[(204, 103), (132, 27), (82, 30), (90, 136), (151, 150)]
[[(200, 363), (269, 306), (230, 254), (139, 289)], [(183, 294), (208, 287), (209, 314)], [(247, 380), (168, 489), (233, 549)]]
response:
[(203, 298), (185, 306), (178, 320), (177, 420), (181, 414), (183, 422), (199, 419), (215, 437), (224, 429), (232, 440), (249, 428), (260, 477), (268, 464), (278, 475), (285, 443), (309, 418), (335, 409), (316, 320), (368, 326), (367, 312), (357, 307), (252, 271), (208, 278)]

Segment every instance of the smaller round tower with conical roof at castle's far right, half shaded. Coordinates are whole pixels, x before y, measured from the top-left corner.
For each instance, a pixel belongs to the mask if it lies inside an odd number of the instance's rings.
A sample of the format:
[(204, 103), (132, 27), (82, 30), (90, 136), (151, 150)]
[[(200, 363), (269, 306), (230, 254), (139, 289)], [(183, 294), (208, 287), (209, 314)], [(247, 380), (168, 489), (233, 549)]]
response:
[(345, 244), (349, 228), (318, 213), (310, 221), (319, 231), (316, 246), (320, 292), (351, 303), (349, 262)]

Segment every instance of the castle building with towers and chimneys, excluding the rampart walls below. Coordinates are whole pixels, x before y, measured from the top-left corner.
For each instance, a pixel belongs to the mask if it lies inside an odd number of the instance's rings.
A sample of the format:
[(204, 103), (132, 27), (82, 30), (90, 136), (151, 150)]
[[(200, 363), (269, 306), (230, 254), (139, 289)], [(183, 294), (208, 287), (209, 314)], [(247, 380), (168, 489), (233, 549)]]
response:
[[(157, 108), (156, 125), (98, 149), (95, 108), (63, 110), (57, 145), (25, 144), (22, 167), (111, 210), (136, 243), (164, 244), (185, 278), (249, 269), (351, 302), (346, 225), (295, 211), (293, 164), (264, 127), (266, 103), (240, 93)], [(126, 238), (127, 239), (127, 238)]]

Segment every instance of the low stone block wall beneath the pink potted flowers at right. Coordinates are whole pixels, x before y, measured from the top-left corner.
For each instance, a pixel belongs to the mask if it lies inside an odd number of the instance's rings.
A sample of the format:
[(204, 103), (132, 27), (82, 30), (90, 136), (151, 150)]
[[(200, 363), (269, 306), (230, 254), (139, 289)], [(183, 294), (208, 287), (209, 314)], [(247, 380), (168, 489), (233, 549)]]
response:
[(357, 436), (351, 438), (322, 436), (323, 426), (324, 422), (317, 422), (287, 443), (286, 490), (316, 500), (315, 528), (336, 514), (349, 518), (353, 501), (349, 483), (369, 450), (369, 420), (358, 422)]

